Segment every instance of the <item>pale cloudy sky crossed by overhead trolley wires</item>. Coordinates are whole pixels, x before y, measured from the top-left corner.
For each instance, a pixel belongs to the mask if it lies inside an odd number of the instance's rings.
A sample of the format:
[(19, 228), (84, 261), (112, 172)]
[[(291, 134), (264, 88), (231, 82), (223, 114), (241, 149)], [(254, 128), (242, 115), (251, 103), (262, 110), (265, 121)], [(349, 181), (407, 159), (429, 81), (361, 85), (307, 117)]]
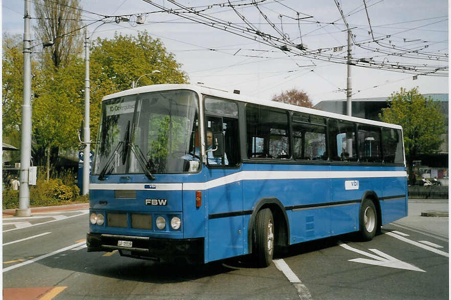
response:
[[(447, 76), (418, 75), (414, 80), (415, 74), (393, 71), (406, 70), (402, 66), (410, 70), (448, 66), (446, 0), (176, 0), (198, 12), (178, 15), (170, 10), (181, 7), (171, 1), (151, 3), (82, 0), (83, 24), (90, 24), (93, 39), (146, 30), (174, 54), (190, 83), (240, 90), (264, 100), (297, 89), (314, 104), (346, 99), (349, 28), (358, 44), (351, 47), (351, 61), (358, 65), (351, 66), (352, 98), (388, 97), (400, 88), (414, 87), (422, 94), (448, 93)], [(126, 15), (129, 22), (116, 24), (111, 22), (114, 17), (104, 18), (119, 15)], [(144, 24), (136, 23), (139, 15)], [(3, 33), (22, 35), (23, 16), (23, 0), (3, 0)], [(195, 22), (195, 17), (212, 26)], [(110, 23), (95, 23), (102, 18)], [(300, 44), (304, 50), (295, 48)], [(280, 49), (284, 45), (289, 51)], [(447, 75), (447, 70), (437, 73)]]

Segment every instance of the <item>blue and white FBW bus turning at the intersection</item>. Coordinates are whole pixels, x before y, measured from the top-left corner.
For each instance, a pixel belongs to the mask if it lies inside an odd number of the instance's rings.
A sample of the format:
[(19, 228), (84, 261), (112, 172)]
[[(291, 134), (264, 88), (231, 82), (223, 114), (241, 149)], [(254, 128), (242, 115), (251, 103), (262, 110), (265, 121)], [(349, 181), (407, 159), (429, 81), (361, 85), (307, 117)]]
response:
[(105, 96), (88, 251), (208, 263), (407, 216), (398, 125), (187, 84)]

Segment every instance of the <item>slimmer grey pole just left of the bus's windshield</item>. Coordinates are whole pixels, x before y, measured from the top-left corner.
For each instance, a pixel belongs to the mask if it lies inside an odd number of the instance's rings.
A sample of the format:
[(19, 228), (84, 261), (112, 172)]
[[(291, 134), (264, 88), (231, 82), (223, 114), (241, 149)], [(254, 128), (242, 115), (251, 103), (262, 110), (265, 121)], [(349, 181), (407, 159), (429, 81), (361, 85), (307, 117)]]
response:
[(84, 127), (83, 127), (83, 140), (85, 144), (83, 151), (83, 189), (82, 195), (89, 193), (89, 154), (91, 150), (91, 134), (89, 133), (89, 37), (87, 34), (87, 28), (84, 28), (84, 50), (85, 50), (85, 62), (86, 71), (84, 79)]

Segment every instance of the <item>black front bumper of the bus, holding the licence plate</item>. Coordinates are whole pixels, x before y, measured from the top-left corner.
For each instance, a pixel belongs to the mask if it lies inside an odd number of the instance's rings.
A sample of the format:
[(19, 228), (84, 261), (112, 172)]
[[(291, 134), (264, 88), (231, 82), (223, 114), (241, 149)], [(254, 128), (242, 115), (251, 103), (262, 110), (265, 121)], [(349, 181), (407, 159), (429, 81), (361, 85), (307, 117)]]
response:
[(122, 256), (137, 259), (204, 263), (204, 238), (179, 240), (86, 233), (86, 245), (88, 252), (119, 250)]

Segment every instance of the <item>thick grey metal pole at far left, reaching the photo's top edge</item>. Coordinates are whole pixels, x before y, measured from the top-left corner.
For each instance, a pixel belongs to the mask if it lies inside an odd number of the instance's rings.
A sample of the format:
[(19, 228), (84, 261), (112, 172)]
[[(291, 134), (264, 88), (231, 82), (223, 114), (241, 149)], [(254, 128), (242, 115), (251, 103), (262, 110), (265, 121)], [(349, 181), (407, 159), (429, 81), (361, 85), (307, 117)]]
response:
[(22, 128), (20, 142), (20, 187), (19, 208), (17, 217), (30, 217), (30, 189), (28, 172), (31, 158), (31, 33), (30, 5), (31, 0), (25, 0), (24, 13), (24, 100), (22, 102)]

